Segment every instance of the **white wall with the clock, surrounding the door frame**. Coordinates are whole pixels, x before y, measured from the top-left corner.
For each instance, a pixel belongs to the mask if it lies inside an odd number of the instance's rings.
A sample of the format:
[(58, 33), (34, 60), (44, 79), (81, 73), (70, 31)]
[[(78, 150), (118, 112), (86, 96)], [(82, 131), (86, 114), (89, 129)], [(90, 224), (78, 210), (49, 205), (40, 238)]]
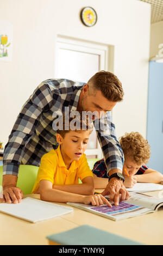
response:
[[(98, 21), (85, 27), (85, 6)], [(5, 0), (1, 17), (13, 23), (12, 62), (0, 62), (0, 140), (7, 143), (18, 112), (36, 86), (54, 78), (57, 35), (115, 46), (114, 71), (124, 101), (114, 109), (117, 136), (139, 131), (146, 136), (150, 5), (136, 0)], [(87, 82), (87, 81), (86, 81)]]

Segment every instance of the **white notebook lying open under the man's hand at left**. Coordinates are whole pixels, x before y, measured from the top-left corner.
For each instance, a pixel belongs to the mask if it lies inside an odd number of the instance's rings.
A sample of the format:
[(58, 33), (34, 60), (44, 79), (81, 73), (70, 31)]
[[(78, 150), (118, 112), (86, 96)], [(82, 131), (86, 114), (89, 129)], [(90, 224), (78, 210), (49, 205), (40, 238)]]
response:
[(73, 208), (26, 197), (18, 204), (0, 204), (0, 212), (35, 223), (69, 214)]

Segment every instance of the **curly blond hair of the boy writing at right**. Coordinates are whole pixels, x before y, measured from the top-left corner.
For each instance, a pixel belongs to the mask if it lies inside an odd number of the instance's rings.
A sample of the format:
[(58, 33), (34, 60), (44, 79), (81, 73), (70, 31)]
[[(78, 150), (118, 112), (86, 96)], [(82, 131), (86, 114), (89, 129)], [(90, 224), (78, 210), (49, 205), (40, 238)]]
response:
[(148, 162), (151, 146), (139, 132), (126, 132), (124, 136), (120, 137), (120, 144), (125, 159), (129, 158), (139, 165)]

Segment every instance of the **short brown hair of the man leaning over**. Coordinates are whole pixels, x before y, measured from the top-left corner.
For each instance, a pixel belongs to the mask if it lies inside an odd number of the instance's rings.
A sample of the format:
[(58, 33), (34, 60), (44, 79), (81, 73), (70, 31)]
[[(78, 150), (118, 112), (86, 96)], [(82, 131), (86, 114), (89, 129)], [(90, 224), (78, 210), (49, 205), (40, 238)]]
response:
[(95, 90), (101, 90), (106, 99), (114, 102), (123, 100), (122, 83), (118, 78), (108, 71), (99, 71), (87, 82)]

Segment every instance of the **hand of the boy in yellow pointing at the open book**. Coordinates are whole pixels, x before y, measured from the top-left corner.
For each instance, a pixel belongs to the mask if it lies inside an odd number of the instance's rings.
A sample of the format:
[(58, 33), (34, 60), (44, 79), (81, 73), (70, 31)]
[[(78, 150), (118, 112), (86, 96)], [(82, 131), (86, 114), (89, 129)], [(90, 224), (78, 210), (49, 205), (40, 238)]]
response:
[(104, 203), (107, 204), (109, 207), (112, 205), (108, 202), (108, 200), (102, 196), (102, 194), (93, 194), (91, 196), (84, 196), (83, 200), (84, 204), (92, 204), (93, 206), (103, 205)]

